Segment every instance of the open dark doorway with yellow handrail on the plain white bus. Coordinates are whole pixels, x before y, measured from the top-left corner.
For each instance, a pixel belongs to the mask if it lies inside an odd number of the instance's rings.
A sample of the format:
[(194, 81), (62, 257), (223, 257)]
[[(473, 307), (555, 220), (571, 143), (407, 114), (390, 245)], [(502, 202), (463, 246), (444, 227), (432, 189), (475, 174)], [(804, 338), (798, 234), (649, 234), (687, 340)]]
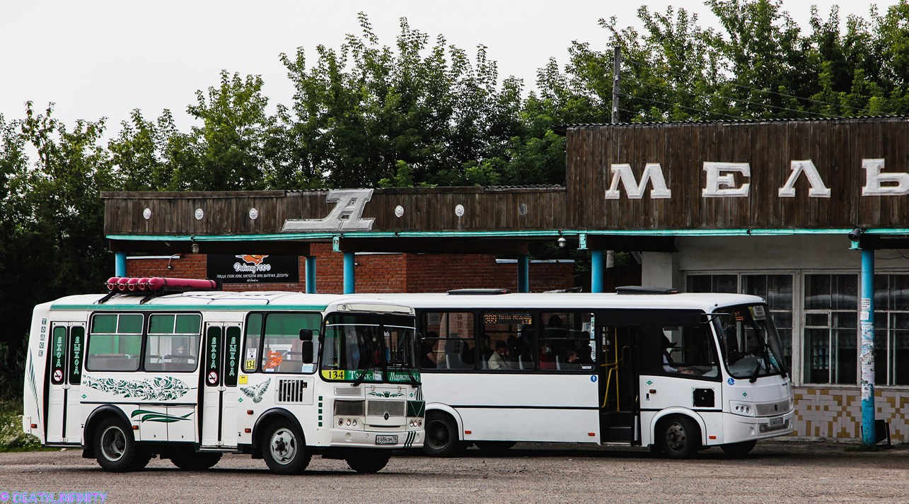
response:
[(597, 324), (596, 331), (600, 340), (601, 440), (634, 442), (640, 432), (637, 328)]

